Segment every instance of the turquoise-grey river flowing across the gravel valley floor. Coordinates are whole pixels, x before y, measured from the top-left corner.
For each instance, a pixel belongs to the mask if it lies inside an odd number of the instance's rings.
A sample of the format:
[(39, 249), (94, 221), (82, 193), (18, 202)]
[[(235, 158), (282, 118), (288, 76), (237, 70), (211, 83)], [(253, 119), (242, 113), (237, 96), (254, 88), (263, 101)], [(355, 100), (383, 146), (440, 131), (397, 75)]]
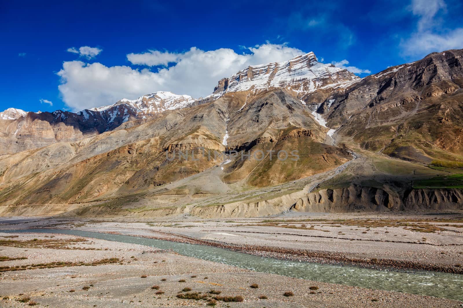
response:
[(80, 230), (26, 229), (0, 230), (0, 232), (61, 233), (114, 242), (139, 244), (161, 249), (172, 249), (185, 256), (224, 263), (257, 272), (273, 273), (334, 284), (347, 284), (369, 289), (445, 297), (463, 301), (463, 275), (459, 274), (427, 271), (376, 270), (356, 266), (277, 260), (206, 245), (194, 245), (144, 237)]

